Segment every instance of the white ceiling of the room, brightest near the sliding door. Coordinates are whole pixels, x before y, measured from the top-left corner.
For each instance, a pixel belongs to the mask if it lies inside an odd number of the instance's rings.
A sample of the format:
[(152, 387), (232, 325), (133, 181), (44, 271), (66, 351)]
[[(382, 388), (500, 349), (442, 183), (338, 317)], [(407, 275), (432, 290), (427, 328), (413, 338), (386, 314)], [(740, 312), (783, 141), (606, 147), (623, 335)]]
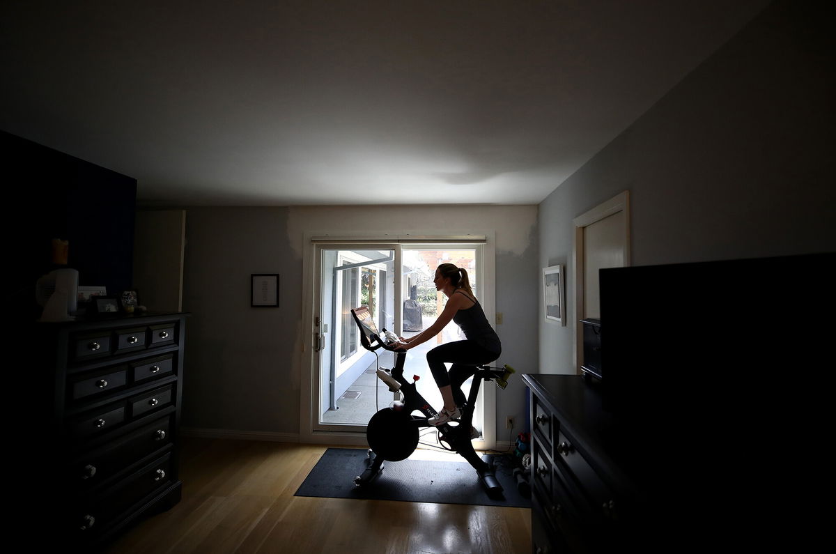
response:
[(767, 2), (71, 4), (4, 3), (0, 128), (232, 206), (539, 203)]

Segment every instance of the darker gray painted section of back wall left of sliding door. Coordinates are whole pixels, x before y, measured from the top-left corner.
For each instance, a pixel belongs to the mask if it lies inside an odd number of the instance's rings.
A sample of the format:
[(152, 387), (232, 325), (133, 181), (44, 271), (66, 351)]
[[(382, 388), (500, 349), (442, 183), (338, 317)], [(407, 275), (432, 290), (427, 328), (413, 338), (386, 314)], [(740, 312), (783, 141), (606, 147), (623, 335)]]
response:
[[(298, 433), (302, 260), (288, 208), (189, 208), (184, 428)], [(250, 307), (250, 274), (279, 274), (278, 308)]]

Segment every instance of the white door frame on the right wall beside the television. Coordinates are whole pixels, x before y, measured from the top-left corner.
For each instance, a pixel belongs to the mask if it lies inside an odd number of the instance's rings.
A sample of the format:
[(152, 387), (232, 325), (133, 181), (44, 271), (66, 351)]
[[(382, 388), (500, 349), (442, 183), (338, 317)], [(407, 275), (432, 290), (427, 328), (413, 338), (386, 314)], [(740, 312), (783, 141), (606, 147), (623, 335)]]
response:
[(584, 333), (579, 331), (578, 324), (580, 320), (586, 317), (586, 306), (584, 305), (584, 228), (622, 211), (624, 212), (624, 265), (630, 265), (630, 191), (620, 192), (608, 201), (592, 208), (589, 212), (573, 219), (575, 229), (572, 254), (575, 291), (575, 317), (573, 321), (575, 347), (572, 361), (576, 373), (581, 373), (580, 366), (584, 358)]

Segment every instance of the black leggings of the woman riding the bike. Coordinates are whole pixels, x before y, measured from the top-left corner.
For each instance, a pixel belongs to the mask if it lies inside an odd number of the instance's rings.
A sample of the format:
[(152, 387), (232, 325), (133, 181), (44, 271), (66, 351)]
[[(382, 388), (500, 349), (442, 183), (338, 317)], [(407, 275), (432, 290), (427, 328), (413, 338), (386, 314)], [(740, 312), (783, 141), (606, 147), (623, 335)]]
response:
[[(436, 379), (436, 385), (439, 388), (450, 385), (456, 406), (463, 406), (467, 397), (461, 391), (461, 385), (476, 373), (477, 365), (494, 362), (501, 353), (488, 350), (473, 341), (447, 342), (427, 352), (426, 363), (432, 377)], [(449, 374), (445, 362), (452, 363)]]

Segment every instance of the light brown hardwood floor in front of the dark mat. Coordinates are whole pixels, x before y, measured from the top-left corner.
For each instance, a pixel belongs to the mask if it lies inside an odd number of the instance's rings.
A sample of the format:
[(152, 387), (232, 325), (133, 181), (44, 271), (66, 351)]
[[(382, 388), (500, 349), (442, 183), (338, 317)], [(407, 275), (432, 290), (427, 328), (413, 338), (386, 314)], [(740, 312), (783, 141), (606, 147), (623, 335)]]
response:
[(104, 552), (531, 551), (526, 508), (293, 496), (327, 448), (184, 439), (182, 500)]

